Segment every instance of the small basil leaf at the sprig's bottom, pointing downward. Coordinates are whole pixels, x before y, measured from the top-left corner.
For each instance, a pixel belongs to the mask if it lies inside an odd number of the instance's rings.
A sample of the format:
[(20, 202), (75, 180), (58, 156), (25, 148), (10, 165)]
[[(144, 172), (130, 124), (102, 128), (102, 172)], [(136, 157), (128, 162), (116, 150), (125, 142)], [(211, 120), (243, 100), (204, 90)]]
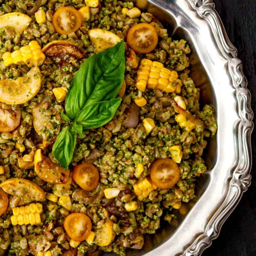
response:
[(57, 140), (52, 148), (54, 157), (65, 169), (68, 169), (72, 161), (75, 146), (76, 133), (72, 131), (71, 126), (66, 126), (58, 134)]

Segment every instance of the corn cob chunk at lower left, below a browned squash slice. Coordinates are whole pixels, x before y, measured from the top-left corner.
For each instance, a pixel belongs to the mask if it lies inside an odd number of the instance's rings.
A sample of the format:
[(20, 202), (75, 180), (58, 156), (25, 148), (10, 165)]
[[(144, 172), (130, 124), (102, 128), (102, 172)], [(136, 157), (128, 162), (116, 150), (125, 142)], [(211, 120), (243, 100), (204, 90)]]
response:
[(41, 223), (40, 214), (42, 213), (42, 205), (40, 203), (32, 203), (26, 206), (12, 208), (13, 216), (11, 217), (12, 225), (34, 225)]

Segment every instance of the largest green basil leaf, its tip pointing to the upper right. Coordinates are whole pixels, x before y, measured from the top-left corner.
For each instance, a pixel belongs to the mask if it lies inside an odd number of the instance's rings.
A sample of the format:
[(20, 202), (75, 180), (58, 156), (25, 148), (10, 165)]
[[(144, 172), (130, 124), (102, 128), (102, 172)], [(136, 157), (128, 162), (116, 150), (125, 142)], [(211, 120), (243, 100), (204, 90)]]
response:
[(124, 79), (124, 51), (121, 41), (82, 64), (66, 97), (65, 109), (70, 119), (73, 120), (85, 106), (116, 97)]

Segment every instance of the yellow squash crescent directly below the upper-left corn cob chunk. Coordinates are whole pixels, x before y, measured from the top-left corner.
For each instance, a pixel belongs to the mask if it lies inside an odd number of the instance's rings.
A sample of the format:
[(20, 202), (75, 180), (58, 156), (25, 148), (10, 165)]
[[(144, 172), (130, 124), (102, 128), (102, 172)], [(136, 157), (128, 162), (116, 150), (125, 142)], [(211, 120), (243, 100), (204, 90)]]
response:
[(33, 67), (25, 76), (16, 80), (0, 81), (0, 101), (7, 104), (23, 104), (31, 100), (41, 88), (41, 72)]

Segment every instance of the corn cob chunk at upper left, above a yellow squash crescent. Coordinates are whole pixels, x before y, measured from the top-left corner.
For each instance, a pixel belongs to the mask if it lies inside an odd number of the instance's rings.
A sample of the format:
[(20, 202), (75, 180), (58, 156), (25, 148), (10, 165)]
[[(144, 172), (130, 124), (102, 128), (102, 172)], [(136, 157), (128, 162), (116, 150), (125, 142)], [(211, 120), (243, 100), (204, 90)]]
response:
[(3, 54), (4, 65), (6, 67), (16, 65), (27, 65), (28, 67), (41, 66), (44, 63), (46, 56), (42, 53), (41, 47), (37, 41), (30, 41), (27, 46), (21, 47), (12, 53), (6, 52)]

